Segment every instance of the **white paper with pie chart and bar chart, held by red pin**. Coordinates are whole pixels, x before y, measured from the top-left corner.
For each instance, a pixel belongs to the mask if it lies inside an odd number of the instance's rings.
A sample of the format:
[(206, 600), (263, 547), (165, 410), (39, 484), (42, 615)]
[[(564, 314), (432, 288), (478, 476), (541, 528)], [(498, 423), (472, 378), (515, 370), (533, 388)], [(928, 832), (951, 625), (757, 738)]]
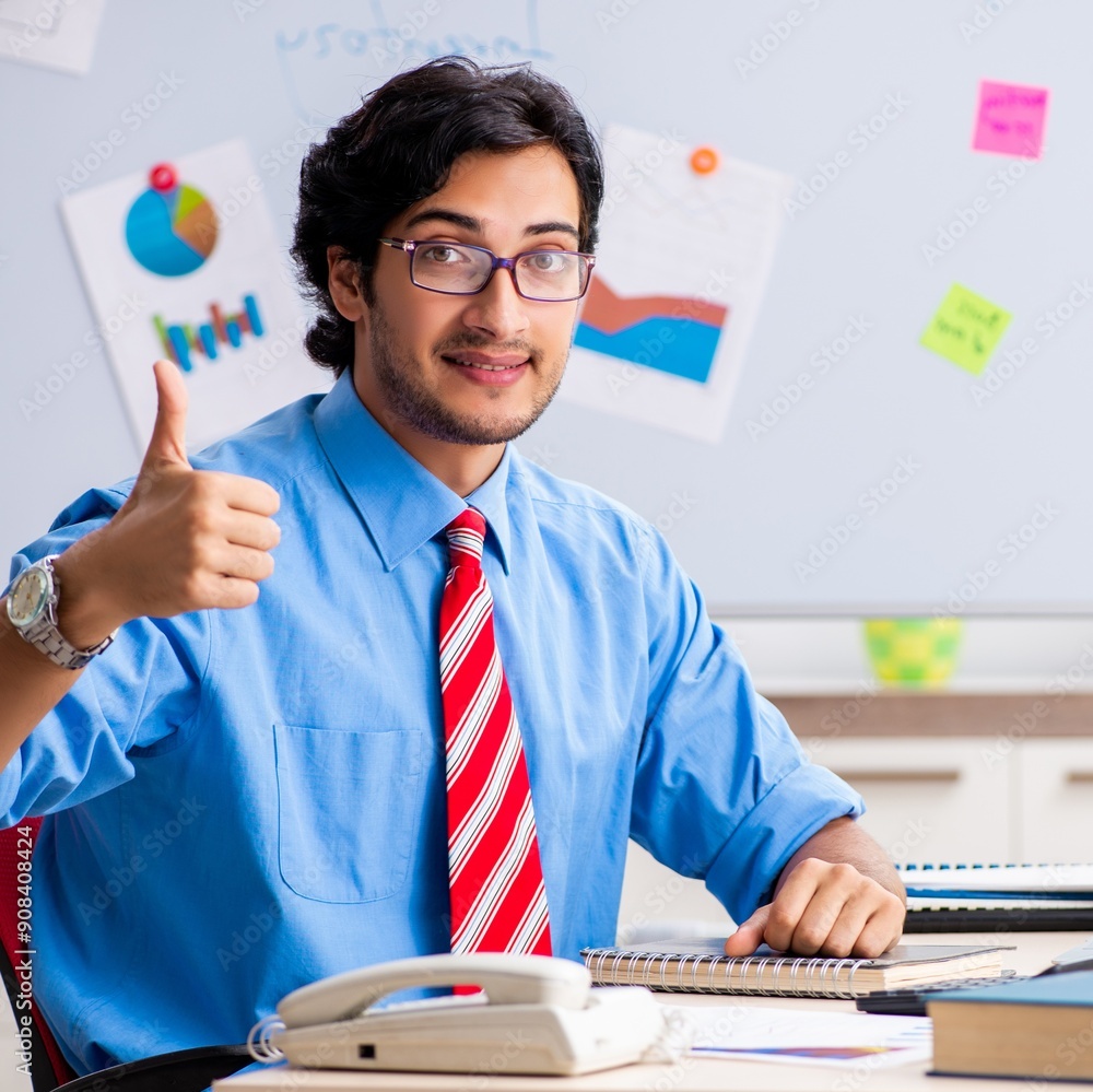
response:
[(81, 190), (61, 209), (141, 449), (160, 357), (189, 388), (191, 450), (329, 385), (303, 351), (303, 308), (242, 141)]

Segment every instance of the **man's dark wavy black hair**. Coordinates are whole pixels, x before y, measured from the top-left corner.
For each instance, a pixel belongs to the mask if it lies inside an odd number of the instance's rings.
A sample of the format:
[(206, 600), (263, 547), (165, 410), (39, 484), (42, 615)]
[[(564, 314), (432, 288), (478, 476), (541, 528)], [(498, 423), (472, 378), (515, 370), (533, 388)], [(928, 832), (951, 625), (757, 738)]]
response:
[(573, 168), (580, 196), (580, 249), (596, 247), (603, 164), (569, 93), (528, 64), (482, 68), (440, 57), (393, 77), (360, 109), (313, 144), (299, 169), (292, 257), (305, 295), (318, 307), (304, 345), (321, 367), (353, 366), (353, 324), (328, 287), (327, 247), (357, 263), (372, 302), (376, 239), (392, 219), (440, 189), (467, 152), (550, 144)]

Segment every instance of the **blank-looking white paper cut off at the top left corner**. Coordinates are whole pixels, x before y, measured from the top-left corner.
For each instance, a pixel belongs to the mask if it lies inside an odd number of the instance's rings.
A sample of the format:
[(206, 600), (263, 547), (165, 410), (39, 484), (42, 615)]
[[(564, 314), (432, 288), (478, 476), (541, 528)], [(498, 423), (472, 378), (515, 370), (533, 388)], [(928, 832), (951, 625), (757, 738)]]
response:
[(0, 0), (0, 58), (84, 75), (106, 0)]

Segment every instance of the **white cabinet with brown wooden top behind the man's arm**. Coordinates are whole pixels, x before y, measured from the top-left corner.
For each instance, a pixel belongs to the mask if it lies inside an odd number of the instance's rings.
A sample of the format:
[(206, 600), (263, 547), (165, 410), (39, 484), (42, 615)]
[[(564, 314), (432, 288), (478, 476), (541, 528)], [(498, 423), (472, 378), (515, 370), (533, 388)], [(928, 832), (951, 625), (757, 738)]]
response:
[[(772, 698), (812, 761), (865, 798), (861, 825), (901, 864), (1093, 861), (1093, 694)], [(622, 940), (732, 926), (698, 880), (631, 845)]]

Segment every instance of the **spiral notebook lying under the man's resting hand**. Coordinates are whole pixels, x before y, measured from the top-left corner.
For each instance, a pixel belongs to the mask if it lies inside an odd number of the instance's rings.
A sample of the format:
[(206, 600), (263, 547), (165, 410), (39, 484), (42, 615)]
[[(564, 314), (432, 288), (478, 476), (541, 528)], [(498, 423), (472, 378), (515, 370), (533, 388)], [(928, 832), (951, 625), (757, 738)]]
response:
[(586, 948), (592, 982), (648, 986), (684, 994), (762, 994), (769, 997), (860, 997), (956, 978), (1001, 975), (1013, 946), (901, 944), (880, 959), (792, 955), (761, 947), (754, 955), (725, 954), (725, 940), (663, 940), (631, 948)]

